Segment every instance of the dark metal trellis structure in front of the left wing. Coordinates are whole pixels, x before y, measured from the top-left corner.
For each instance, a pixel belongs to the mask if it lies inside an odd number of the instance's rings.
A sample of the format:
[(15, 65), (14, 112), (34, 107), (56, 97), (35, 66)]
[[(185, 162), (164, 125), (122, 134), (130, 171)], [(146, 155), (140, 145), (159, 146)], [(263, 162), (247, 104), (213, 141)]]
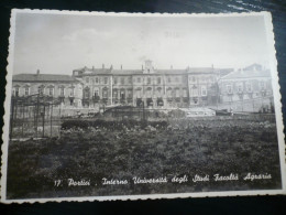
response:
[(41, 94), (11, 98), (10, 139), (55, 137), (59, 127), (58, 99)]

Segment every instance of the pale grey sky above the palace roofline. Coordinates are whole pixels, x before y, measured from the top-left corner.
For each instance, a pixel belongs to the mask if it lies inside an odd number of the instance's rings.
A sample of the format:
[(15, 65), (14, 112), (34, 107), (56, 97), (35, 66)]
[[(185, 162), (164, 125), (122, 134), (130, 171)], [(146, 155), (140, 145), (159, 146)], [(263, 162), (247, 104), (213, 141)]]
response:
[(14, 74), (87, 67), (140, 69), (268, 65), (262, 15), (105, 17), (16, 13)]

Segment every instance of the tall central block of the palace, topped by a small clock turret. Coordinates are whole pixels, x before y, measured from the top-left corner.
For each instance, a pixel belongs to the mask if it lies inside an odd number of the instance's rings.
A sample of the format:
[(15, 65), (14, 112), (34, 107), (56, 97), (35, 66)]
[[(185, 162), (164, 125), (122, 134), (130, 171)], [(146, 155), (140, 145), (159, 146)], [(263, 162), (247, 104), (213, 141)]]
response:
[(172, 108), (207, 105), (216, 100), (219, 69), (201, 67), (155, 69), (151, 61), (141, 69), (79, 68), (73, 76), (84, 83), (82, 105), (132, 105)]

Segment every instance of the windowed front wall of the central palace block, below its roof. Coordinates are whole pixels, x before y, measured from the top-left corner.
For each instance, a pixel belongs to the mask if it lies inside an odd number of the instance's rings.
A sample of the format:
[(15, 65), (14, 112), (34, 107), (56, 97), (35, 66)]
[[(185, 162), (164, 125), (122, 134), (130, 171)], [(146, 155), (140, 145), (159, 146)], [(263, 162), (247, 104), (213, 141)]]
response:
[[(194, 77), (196, 82), (193, 82)], [(146, 107), (170, 108), (207, 104), (209, 88), (213, 85), (213, 74), (86, 74), (80, 78), (84, 84), (82, 104), (86, 107), (106, 105), (133, 105), (144, 103)], [(189, 82), (190, 80), (190, 82)], [(198, 87), (195, 95), (193, 87)], [(112, 95), (112, 97), (111, 97)], [(196, 97), (198, 100), (190, 100)], [(97, 98), (96, 98), (97, 97)]]

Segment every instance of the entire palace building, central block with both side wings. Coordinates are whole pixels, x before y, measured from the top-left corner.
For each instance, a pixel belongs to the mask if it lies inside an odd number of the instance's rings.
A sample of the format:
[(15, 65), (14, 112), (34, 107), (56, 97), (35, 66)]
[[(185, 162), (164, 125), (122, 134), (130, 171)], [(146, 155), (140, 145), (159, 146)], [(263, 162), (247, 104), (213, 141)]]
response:
[(257, 64), (238, 71), (213, 66), (155, 69), (151, 61), (141, 69), (102, 65), (74, 69), (72, 76), (40, 72), (13, 76), (13, 96), (35, 94), (57, 98), (65, 107), (78, 108), (120, 104), (155, 109), (227, 105), (243, 110), (244, 100), (261, 99), (257, 107), (252, 103), (255, 111), (265, 105), (265, 99), (272, 103), (273, 98), (270, 72)]

